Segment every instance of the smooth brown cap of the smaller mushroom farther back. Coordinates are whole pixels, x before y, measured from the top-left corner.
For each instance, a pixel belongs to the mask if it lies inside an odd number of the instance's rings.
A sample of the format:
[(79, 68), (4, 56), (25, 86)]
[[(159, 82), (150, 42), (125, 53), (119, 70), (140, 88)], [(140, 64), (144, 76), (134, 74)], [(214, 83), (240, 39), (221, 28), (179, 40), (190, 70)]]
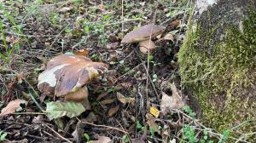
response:
[(153, 24), (138, 27), (134, 31), (130, 31), (125, 35), (121, 43), (137, 43), (148, 40), (151, 37), (156, 37), (166, 30), (164, 26), (156, 26)]

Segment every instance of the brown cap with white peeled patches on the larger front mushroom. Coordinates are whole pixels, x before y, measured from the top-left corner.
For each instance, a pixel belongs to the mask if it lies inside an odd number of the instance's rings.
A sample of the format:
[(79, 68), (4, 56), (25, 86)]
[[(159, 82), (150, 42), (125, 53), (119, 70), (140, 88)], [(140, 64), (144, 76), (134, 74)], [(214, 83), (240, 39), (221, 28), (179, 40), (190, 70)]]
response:
[(82, 55), (62, 54), (49, 60), (38, 77), (38, 89), (47, 95), (64, 96), (76, 92), (108, 68)]

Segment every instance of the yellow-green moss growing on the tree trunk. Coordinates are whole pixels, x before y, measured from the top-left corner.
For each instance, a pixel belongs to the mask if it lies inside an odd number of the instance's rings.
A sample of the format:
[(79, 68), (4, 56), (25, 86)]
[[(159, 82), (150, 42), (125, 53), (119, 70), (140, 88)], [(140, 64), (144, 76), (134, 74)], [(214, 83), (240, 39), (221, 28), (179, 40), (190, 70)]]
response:
[[(220, 25), (204, 29), (190, 24), (187, 39), (178, 54), (183, 85), (195, 94), (203, 111), (202, 121), (222, 131), (256, 117), (256, 13), (250, 10), (239, 27), (225, 27), (224, 40), (209, 45)], [(203, 39), (202, 39), (203, 37)], [(201, 49), (213, 46), (211, 52)], [(255, 131), (247, 123), (234, 132)]]

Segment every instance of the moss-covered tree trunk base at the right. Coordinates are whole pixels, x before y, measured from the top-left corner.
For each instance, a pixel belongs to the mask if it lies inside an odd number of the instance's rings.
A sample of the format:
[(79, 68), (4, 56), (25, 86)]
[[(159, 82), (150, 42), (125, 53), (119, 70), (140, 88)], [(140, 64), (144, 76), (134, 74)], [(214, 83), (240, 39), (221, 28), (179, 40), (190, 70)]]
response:
[[(256, 131), (256, 2), (197, 0), (178, 54), (180, 76), (202, 122), (240, 136)], [(256, 141), (256, 136), (247, 135)]]

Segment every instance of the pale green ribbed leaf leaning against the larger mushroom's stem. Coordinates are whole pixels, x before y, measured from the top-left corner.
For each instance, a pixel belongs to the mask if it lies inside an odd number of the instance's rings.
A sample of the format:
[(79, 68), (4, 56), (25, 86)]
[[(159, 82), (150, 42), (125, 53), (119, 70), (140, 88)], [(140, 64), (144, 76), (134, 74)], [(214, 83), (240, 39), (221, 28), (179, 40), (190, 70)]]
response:
[(49, 120), (63, 116), (77, 117), (85, 110), (81, 103), (76, 102), (49, 102), (46, 104)]

